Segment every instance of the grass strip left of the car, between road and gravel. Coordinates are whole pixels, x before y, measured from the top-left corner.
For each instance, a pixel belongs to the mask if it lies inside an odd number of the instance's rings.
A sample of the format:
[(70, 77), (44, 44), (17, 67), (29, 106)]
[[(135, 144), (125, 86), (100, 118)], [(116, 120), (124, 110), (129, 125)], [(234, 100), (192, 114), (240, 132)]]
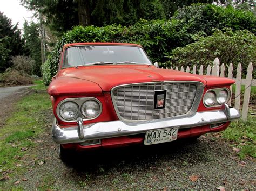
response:
[[(46, 120), (51, 108), (49, 95), (46, 87), (37, 82), (32, 87), (36, 92), (22, 98), (14, 106), (13, 114), (6, 120), (0, 130), (0, 179), (11, 178), (21, 175), (26, 171), (26, 163), (31, 150), (37, 146), (35, 142), (38, 135), (45, 130), (48, 124)], [(10, 188), (9, 181), (0, 181), (0, 187), (5, 183)], [(9, 183), (8, 183), (9, 182)]]

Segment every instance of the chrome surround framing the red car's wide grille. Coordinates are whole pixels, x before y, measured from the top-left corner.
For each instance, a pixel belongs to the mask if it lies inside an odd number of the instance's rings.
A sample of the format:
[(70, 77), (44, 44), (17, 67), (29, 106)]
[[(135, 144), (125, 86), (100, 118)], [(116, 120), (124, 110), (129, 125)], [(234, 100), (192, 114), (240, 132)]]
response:
[(118, 108), (117, 108), (117, 104), (114, 101), (114, 96), (113, 96), (113, 91), (116, 90), (117, 88), (120, 87), (129, 87), (129, 86), (136, 86), (138, 84), (151, 84), (151, 83), (187, 83), (187, 84), (194, 84), (197, 87), (197, 91), (196, 91), (196, 96), (194, 97), (194, 101), (192, 103), (192, 107), (191, 109), (183, 115), (178, 115), (178, 116), (173, 116), (171, 118), (176, 118), (176, 117), (185, 117), (185, 116), (190, 116), (192, 114), (194, 114), (200, 104), (201, 98), (203, 97), (203, 93), (204, 93), (204, 84), (202, 82), (198, 82), (198, 81), (157, 81), (157, 82), (141, 82), (141, 83), (129, 83), (129, 84), (122, 84), (119, 86), (115, 86), (111, 89), (111, 100), (114, 106), (114, 110), (116, 111), (116, 114), (118, 116), (118, 119), (120, 119), (121, 121), (124, 122), (139, 122), (139, 121), (145, 121), (145, 120), (127, 120), (122, 118), (122, 116), (120, 116), (119, 112), (118, 112)]

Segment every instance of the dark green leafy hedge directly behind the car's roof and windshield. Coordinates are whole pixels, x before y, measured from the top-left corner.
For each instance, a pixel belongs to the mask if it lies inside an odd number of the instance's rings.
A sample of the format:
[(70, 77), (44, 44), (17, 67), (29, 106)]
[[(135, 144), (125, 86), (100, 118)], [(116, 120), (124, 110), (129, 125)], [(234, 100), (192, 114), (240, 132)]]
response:
[(172, 24), (164, 20), (140, 20), (131, 27), (120, 25), (108, 25), (105, 27), (76, 26), (68, 31), (59, 40), (48, 57), (48, 61), (42, 66), (42, 74), (45, 84), (51, 82), (56, 74), (59, 63), (59, 56), (64, 44), (78, 42), (116, 42), (116, 43), (137, 43), (145, 48), (153, 62), (167, 61), (163, 53), (167, 52), (174, 41)]

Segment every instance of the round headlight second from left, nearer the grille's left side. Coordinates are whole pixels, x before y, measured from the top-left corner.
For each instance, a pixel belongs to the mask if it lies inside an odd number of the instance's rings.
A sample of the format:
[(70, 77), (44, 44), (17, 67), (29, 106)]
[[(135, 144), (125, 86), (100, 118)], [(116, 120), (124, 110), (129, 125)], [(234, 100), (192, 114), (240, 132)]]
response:
[(101, 107), (96, 100), (88, 100), (82, 104), (81, 110), (86, 118), (95, 118), (100, 114)]

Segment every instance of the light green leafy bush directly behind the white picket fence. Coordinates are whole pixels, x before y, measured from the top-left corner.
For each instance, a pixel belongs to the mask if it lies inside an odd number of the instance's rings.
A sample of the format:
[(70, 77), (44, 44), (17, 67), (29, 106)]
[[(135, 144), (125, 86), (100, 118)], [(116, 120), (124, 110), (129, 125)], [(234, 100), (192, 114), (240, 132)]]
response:
[[(212, 65), (212, 61), (218, 56), (220, 62), (225, 63), (226, 67), (233, 63), (234, 73), (238, 63), (241, 62), (244, 77), (250, 62), (255, 68), (256, 37), (250, 31), (233, 32), (226, 28), (225, 32), (217, 29), (208, 37), (194, 37), (198, 39), (196, 43), (172, 50), (168, 56), (170, 61), (166, 63), (167, 66), (192, 67), (196, 65), (199, 69), (200, 65), (203, 65), (206, 69), (207, 65)], [(253, 76), (256, 76), (255, 70)]]

